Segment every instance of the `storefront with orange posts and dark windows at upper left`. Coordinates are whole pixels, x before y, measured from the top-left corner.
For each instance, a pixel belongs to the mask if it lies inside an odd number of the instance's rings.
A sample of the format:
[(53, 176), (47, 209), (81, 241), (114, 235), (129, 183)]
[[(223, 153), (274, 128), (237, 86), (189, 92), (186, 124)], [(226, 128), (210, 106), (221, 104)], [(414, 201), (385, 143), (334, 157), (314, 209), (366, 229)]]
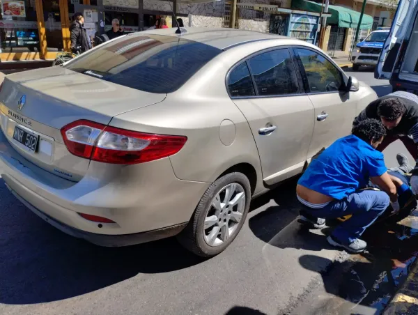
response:
[[(159, 0), (0, 0), (1, 61), (52, 60), (70, 51), (70, 21), (85, 17), (88, 36), (111, 29), (117, 18), (125, 32), (147, 29), (164, 18), (171, 27), (173, 2)], [(180, 2), (180, 1), (179, 1)], [(155, 10), (157, 9), (157, 10)], [(177, 13), (187, 20), (187, 14)]]

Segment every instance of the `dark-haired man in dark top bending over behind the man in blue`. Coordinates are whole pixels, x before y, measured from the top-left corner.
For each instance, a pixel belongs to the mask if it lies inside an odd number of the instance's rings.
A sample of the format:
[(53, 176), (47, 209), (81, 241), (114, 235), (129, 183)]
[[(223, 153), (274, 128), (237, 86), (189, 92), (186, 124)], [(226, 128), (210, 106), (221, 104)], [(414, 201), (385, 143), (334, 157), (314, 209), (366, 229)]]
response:
[(387, 129), (387, 136), (378, 146), (383, 151), (389, 144), (401, 140), (412, 157), (417, 161), (412, 170), (411, 187), (418, 194), (418, 96), (408, 92), (398, 91), (371, 102), (359, 116), (354, 125), (367, 118), (382, 121)]

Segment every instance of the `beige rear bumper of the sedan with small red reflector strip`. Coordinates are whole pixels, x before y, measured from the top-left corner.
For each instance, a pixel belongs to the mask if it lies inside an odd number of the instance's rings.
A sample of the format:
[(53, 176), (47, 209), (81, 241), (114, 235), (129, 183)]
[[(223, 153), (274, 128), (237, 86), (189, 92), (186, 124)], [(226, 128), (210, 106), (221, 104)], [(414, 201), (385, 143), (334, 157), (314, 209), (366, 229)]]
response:
[[(95, 234), (127, 238), (128, 234), (166, 228), (172, 232), (172, 226), (190, 220), (210, 185), (179, 180), (168, 158), (129, 167), (91, 162), (86, 176), (78, 183), (71, 182), (25, 160), (1, 130), (0, 160), (4, 163), (1, 177), (26, 206), (43, 214), (48, 222), (79, 231), (77, 234), (85, 239), (95, 240)], [(93, 222), (79, 213), (115, 223)], [(159, 233), (164, 237), (171, 236), (171, 232)]]

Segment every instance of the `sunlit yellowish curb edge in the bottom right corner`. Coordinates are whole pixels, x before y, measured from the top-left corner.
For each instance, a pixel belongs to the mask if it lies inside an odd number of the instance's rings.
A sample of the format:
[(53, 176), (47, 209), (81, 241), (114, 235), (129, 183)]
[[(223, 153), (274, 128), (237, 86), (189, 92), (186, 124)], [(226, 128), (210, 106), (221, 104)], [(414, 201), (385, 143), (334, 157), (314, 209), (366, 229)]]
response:
[(387, 305), (383, 315), (418, 314), (418, 259), (410, 268), (410, 274)]

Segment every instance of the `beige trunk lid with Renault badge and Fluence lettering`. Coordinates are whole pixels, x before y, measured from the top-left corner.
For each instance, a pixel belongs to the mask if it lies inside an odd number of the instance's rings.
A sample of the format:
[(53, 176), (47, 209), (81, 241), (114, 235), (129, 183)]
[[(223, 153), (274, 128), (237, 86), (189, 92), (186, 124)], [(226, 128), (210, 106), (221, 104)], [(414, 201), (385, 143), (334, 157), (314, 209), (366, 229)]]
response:
[[(60, 132), (64, 125), (79, 119), (107, 125), (118, 114), (162, 102), (165, 97), (61, 67), (20, 72), (3, 82), (0, 125), (10, 144), (27, 160), (78, 181), (86, 174), (89, 160), (68, 152)], [(38, 138), (36, 151), (13, 138), (16, 128)]]

